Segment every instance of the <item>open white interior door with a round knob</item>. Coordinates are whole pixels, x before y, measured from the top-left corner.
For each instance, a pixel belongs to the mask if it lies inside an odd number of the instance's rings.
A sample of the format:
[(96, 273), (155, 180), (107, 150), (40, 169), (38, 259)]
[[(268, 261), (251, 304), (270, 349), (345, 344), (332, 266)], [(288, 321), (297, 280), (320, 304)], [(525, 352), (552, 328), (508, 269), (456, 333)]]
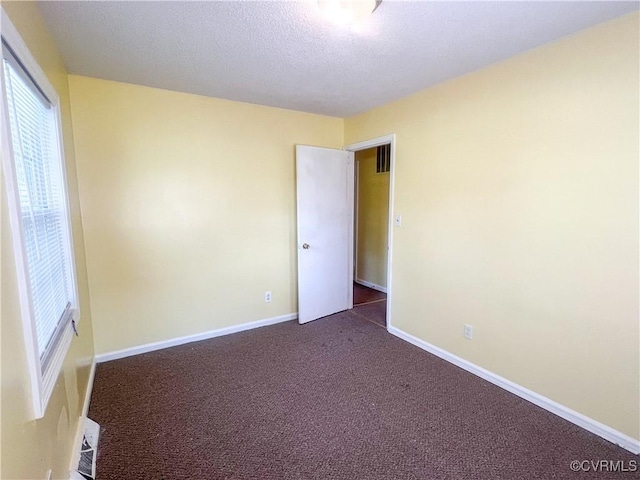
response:
[(353, 307), (353, 152), (296, 146), (298, 321)]

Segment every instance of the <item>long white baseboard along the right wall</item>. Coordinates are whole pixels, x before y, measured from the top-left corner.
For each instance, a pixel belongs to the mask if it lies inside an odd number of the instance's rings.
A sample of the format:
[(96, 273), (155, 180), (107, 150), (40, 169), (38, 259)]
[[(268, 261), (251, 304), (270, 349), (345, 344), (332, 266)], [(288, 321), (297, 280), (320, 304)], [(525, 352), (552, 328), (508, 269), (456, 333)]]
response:
[(614, 430), (603, 423), (598, 422), (592, 418), (589, 418), (581, 413), (576, 412), (575, 410), (571, 410), (564, 405), (561, 405), (557, 402), (554, 402), (550, 398), (544, 397), (532, 390), (529, 390), (517, 383), (512, 382), (511, 380), (507, 380), (499, 375), (496, 375), (489, 370), (486, 370), (474, 363), (471, 363), (463, 358), (458, 357), (452, 353), (447, 352), (435, 345), (425, 342), (424, 340), (420, 340), (417, 337), (414, 337), (411, 334), (408, 334), (399, 328), (389, 327), (389, 333), (399, 337), (416, 347), (419, 347), (423, 350), (426, 350), (429, 353), (434, 354), (437, 357), (446, 360), (449, 363), (452, 363), (474, 375), (477, 375), (480, 378), (487, 380), (488, 382), (497, 385), (498, 387), (504, 388), (508, 392), (513, 393), (514, 395), (519, 396), (529, 402), (544, 408), (548, 412), (554, 413), (565, 420), (578, 425), (579, 427), (584, 428), (585, 430), (590, 431), (598, 435), (599, 437), (608, 440), (611, 443), (615, 443), (625, 450), (629, 450), (631, 453), (640, 454), (640, 440), (632, 438), (622, 432)]

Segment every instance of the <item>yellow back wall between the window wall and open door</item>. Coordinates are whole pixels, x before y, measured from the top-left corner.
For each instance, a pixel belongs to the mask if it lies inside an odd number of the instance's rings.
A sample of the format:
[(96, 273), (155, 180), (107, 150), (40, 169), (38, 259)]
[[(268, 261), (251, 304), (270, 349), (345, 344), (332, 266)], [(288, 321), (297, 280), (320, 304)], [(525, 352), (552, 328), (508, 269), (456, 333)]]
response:
[(296, 312), (294, 145), (342, 147), (344, 121), (69, 84), (96, 351)]

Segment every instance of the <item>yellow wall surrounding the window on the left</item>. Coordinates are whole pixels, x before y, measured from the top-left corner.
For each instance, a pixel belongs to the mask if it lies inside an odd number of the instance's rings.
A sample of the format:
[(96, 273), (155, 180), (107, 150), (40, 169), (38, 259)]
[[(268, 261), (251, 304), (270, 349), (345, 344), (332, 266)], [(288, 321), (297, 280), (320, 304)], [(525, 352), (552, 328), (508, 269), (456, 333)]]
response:
[(44, 479), (48, 469), (54, 478), (68, 478), (71, 446), (93, 358), (93, 331), (89, 306), (84, 241), (78, 203), (73, 134), (69, 109), (67, 72), (31, 2), (2, 2), (2, 8), (20, 32), (60, 97), (67, 179), (71, 203), (75, 260), (82, 319), (80, 337), (73, 340), (63, 371), (53, 390), (45, 416), (31, 419), (32, 400), (16, 282), (15, 259), (9, 228), (4, 178), (0, 183), (2, 275), (2, 454), (3, 479)]

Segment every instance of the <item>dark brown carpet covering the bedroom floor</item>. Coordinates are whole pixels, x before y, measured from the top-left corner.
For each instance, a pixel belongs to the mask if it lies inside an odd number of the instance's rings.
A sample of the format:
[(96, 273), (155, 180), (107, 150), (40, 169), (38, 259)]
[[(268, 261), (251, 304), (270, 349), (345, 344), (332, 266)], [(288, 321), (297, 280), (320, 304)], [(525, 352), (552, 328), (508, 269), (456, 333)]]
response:
[(638, 459), (353, 312), (100, 364), (90, 417), (100, 480), (585, 479), (572, 460)]

